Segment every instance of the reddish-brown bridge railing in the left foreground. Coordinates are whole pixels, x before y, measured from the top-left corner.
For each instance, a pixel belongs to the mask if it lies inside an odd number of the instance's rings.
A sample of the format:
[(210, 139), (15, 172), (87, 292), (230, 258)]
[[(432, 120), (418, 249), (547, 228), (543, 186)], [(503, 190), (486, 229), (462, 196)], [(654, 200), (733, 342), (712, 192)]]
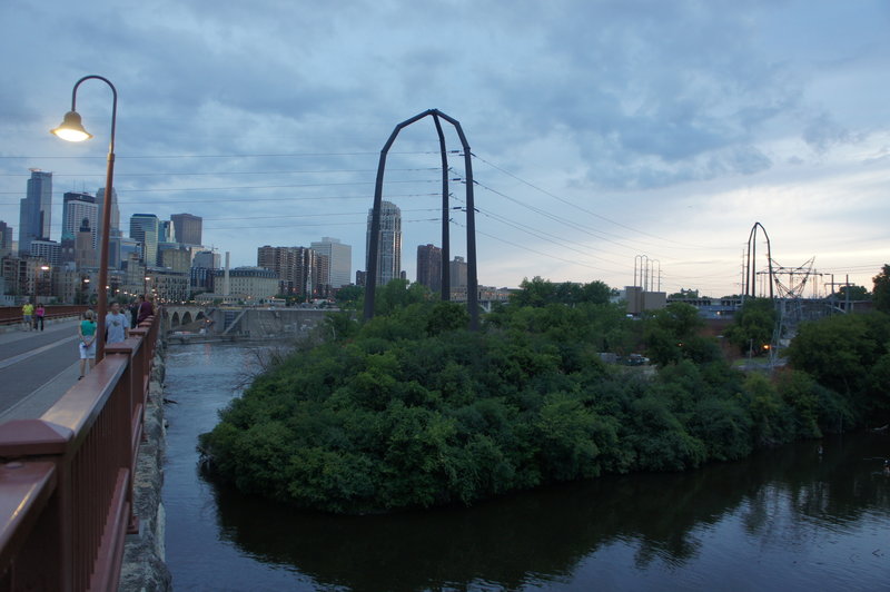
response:
[(160, 317), (38, 420), (0, 425), (0, 590), (117, 590)]

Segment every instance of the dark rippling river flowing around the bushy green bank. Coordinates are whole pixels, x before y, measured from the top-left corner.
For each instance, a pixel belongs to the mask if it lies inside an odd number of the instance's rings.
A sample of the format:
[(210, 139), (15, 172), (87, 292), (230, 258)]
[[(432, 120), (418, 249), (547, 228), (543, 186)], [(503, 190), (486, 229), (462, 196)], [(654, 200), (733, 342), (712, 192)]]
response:
[[(890, 590), (890, 436), (852, 434), (681, 474), (607, 476), (473, 507), (332, 516), (206, 480), (197, 436), (257, 367), (167, 353), (176, 590)], [(819, 446), (822, 453), (819, 453)]]

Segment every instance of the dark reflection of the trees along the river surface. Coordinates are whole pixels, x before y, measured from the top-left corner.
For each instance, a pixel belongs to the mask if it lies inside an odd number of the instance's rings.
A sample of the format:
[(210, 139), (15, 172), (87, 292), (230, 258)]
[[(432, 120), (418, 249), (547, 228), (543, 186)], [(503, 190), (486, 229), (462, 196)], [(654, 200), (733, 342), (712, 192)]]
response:
[(517, 589), (532, 574), (571, 579), (584, 558), (615, 543), (633, 549), (636, 569), (656, 560), (683, 566), (700, 555), (701, 531), (736, 512), (750, 535), (792, 547), (819, 535), (814, 524), (842, 530), (876, 507), (887, 516), (887, 480), (849, 462), (869, 446), (868, 438), (857, 441), (861, 452), (838, 443), (815, 471), (803, 444), (690, 474), (605, 477), (471, 509), (388, 516), (300, 512), (225, 486), (212, 491), (225, 539), (317, 582), (424, 590), (484, 581)]

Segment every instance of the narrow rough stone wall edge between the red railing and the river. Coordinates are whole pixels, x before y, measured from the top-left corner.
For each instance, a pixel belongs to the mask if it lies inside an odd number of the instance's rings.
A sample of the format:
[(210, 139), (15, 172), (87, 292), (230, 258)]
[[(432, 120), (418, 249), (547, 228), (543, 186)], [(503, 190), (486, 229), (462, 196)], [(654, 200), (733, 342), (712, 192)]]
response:
[(165, 515), (161, 503), (166, 426), (164, 421), (165, 343), (158, 339), (146, 404), (144, 441), (134, 482), (134, 513), (139, 533), (127, 535), (120, 572), (121, 592), (172, 590), (165, 563)]

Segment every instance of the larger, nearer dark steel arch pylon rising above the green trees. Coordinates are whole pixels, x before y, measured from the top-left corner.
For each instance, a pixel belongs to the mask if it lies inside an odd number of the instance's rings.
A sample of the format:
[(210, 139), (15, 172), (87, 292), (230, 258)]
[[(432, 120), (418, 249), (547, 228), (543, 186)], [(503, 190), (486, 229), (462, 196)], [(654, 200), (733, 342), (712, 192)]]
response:
[(427, 109), (422, 114), (417, 114), (411, 119), (398, 124), (389, 139), (386, 140), (383, 149), (380, 150), (380, 161), (377, 166), (377, 181), (374, 186), (374, 208), (370, 216), (370, 237), (368, 239), (367, 253), (367, 277), (365, 279), (365, 319), (374, 317), (374, 299), (377, 289), (377, 255), (379, 251), (380, 231), (380, 204), (383, 201), (383, 177), (386, 169), (386, 157), (389, 154), (393, 142), (395, 142), (398, 134), (419, 121), (425, 117), (432, 117), (436, 125), (436, 132), (438, 134), (439, 149), (442, 151), (442, 299), (451, 299), (451, 276), (448, 274), (448, 260), (451, 258), (449, 240), (448, 240), (448, 158), (445, 150), (445, 135), (442, 131), (442, 124), (439, 119), (444, 119), (454, 126), (457, 137), (461, 139), (461, 146), (464, 149), (464, 168), (466, 169), (466, 258), (467, 258), (467, 309), (469, 312), (469, 328), (475, 330), (478, 328), (478, 279), (476, 276), (476, 218), (475, 205), (473, 199), (473, 155), (469, 152), (469, 142), (466, 140), (464, 129), (461, 122), (456, 119), (443, 114), (438, 109)]

